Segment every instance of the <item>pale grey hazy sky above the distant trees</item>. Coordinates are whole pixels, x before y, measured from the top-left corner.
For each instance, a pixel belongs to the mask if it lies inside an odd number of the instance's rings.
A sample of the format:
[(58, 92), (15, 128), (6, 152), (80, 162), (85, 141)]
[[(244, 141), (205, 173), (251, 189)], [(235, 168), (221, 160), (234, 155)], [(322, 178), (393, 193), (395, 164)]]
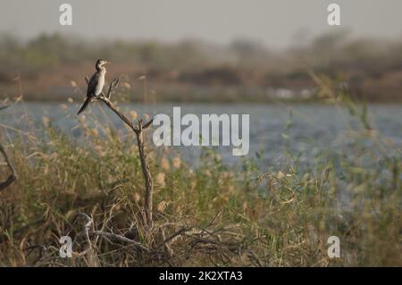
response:
[[(72, 5), (73, 25), (59, 24), (59, 6)], [(355, 35), (402, 36), (401, 0), (1, 0), (0, 32), (31, 38), (59, 31), (88, 38), (199, 38), (225, 44), (251, 38), (287, 46), (294, 35), (331, 29), (327, 6), (341, 6), (341, 23)]]

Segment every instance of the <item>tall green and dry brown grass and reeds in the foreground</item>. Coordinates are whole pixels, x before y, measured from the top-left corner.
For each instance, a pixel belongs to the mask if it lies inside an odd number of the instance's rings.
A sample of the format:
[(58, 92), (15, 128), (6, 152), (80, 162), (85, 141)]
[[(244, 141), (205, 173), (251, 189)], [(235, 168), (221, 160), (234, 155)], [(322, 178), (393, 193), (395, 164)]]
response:
[[(188, 165), (172, 149), (147, 143), (151, 230), (130, 130), (117, 131), (94, 114), (75, 127), (83, 141), (46, 117), (29, 132), (3, 127), (18, 180), (0, 192), (0, 265), (401, 266), (401, 149), (373, 130), (346, 88), (313, 79), (322, 100), (359, 122), (350, 130), (351, 150), (322, 149), (308, 166), (289, 153), (274, 171), (258, 155), (230, 166), (208, 148)], [(9, 175), (0, 173), (2, 180)], [(71, 258), (59, 256), (64, 235), (74, 241)], [(340, 258), (327, 256), (330, 236), (340, 239)]]

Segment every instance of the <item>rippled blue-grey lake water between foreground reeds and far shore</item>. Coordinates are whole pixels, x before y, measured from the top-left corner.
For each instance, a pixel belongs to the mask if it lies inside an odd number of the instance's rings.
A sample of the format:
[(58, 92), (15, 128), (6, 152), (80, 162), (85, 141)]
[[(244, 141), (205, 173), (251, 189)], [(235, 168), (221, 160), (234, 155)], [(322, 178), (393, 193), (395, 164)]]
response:
[[(311, 155), (322, 150), (332, 151), (350, 147), (354, 143), (353, 130), (358, 123), (348, 116), (348, 112), (334, 105), (206, 105), (206, 104), (160, 104), (160, 105), (125, 105), (121, 110), (135, 110), (139, 115), (144, 113), (155, 115), (166, 113), (172, 116), (174, 106), (181, 107), (181, 116), (186, 113), (197, 114), (249, 114), (250, 116), (250, 151), (247, 157), (255, 157), (258, 152), (264, 163), (280, 164), (284, 161), (287, 151), (308, 161)], [(103, 109), (101, 108), (103, 107)], [(74, 128), (78, 124), (78, 103), (19, 103), (0, 113), (0, 122), (20, 130), (29, 129), (26, 123), (27, 114), (38, 127), (43, 117), (49, 118), (54, 126), (72, 138), (80, 138), (80, 130)], [(374, 130), (392, 141), (389, 152), (402, 146), (402, 105), (369, 105), (369, 121)], [(100, 103), (93, 104), (91, 113), (87, 113), (88, 122), (91, 118), (99, 118), (103, 122), (111, 122), (124, 130), (120, 120), (114, 113)], [(184, 130), (184, 128), (182, 129)], [(7, 130), (10, 134), (13, 130)], [(152, 132), (152, 130), (150, 131)], [(175, 147), (176, 149), (178, 147)], [(214, 147), (226, 162), (239, 161), (239, 156), (233, 156), (232, 147)], [(184, 159), (197, 161), (201, 147), (179, 147)]]

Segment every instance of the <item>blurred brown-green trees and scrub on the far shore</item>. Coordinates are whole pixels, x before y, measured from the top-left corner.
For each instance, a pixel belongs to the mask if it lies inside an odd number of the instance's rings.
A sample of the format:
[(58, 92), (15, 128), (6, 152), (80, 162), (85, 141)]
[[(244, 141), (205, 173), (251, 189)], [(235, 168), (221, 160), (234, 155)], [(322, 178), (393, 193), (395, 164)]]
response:
[[(141, 41), (88, 42), (82, 38), (41, 35), (27, 42), (0, 37), (0, 96), (21, 93), (27, 100), (60, 100), (73, 94), (71, 80), (93, 71), (96, 58), (113, 62), (108, 74), (122, 73), (131, 98), (142, 100), (143, 84), (155, 100), (267, 102), (285, 91), (292, 100), (315, 98), (307, 69), (348, 82), (355, 99), (401, 101), (402, 43), (352, 38), (348, 30), (272, 49), (250, 40), (217, 46), (196, 40), (175, 44)], [(77, 84), (84, 86), (83, 80)], [(21, 88), (21, 87), (20, 87)]]

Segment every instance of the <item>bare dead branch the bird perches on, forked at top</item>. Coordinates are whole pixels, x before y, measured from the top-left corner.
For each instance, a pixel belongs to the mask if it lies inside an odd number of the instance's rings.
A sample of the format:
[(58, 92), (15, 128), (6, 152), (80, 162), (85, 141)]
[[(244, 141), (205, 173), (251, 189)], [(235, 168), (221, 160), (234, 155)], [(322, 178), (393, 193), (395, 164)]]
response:
[[(87, 84), (89, 82), (88, 78), (85, 78), (87, 81)], [(137, 125), (134, 125), (123, 113), (119, 112), (119, 110), (113, 105), (111, 102), (110, 98), (112, 96), (113, 90), (119, 86), (119, 81), (120, 79), (116, 78), (112, 80), (112, 82), (109, 85), (109, 88), (107, 89), (107, 93), (105, 94), (104, 92), (101, 93), (100, 96), (96, 96), (97, 100), (100, 100), (105, 103), (106, 106), (109, 107), (115, 113), (122, 122), (124, 122), (126, 125), (130, 127), (130, 129), (136, 134), (137, 137), (137, 145), (138, 145), (138, 153), (139, 153), (139, 159), (141, 163), (141, 168), (142, 172), (144, 175), (145, 179), (145, 188), (146, 188), (146, 195), (145, 195), (145, 220), (147, 223), (147, 227), (149, 230), (151, 230), (154, 227), (154, 220), (152, 216), (152, 201), (153, 201), (153, 182), (152, 182), (152, 177), (151, 177), (151, 172), (149, 171), (149, 166), (147, 163), (147, 152), (145, 150), (144, 146), (144, 130), (146, 130), (149, 126), (151, 126), (152, 122), (154, 119), (151, 119), (149, 122), (144, 123), (142, 119), (138, 120)]]

